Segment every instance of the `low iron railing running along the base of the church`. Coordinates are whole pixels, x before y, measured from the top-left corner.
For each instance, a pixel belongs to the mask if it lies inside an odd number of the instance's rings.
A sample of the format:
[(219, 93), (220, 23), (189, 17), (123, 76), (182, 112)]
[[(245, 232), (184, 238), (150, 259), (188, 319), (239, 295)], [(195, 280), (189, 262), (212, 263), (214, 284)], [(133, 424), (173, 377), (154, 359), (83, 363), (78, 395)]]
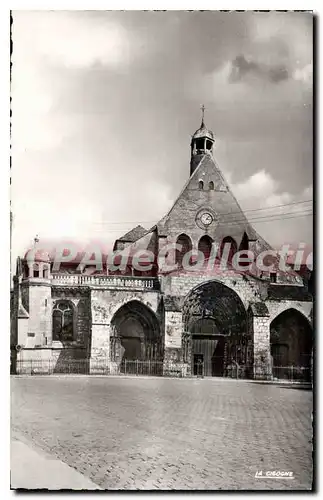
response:
[(205, 363), (189, 366), (187, 363), (165, 363), (163, 361), (123, 360), (120, 364), (106, 360), (17, 360), (11, 367), (11, 373), (17, 375), (144, 375), (170, 377), (220, 376), (231, 379), (265, 378), (267, 380), (288, 380), (292, 382), (310, 382), (312, 370), (304, 366), (274, 366), (272, 371), (264, 372), (257, 366), (232, 364), (223, 372), (212, 374)]

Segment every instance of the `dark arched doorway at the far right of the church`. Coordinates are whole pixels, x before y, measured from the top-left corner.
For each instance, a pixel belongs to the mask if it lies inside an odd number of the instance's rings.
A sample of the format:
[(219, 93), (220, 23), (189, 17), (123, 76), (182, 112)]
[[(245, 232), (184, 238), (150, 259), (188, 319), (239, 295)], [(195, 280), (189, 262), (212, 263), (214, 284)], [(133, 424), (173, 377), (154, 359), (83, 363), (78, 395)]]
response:
[(270, 325), (274, 377), (310, 380), (312, 344), (312, 328), (302, 313), (291, 308), (279, 314)]

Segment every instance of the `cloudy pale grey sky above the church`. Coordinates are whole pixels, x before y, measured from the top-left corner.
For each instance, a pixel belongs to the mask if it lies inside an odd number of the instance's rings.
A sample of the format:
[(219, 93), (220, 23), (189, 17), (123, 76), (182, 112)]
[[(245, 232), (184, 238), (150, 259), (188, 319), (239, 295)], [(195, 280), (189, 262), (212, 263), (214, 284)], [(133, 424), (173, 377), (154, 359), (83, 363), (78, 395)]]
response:
[(12, 41), (13, 260), (161, 219), (202, 104), (256, 230), (312, 244), (311, 14), (14, 11)]

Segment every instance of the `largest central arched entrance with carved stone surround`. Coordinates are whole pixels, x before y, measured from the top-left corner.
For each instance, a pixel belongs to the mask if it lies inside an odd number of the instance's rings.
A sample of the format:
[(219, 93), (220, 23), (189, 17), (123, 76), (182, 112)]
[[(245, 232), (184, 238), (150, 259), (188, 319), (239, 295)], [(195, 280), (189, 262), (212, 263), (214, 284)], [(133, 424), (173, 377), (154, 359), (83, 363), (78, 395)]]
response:
[(247, 314), (231, 288), (212, 281), (192, 290), (184, 302), (183, 323), (183, 361), (192, 374), (199, 374), (201, 364), (204, 375), (213, 377), (251, 368)]

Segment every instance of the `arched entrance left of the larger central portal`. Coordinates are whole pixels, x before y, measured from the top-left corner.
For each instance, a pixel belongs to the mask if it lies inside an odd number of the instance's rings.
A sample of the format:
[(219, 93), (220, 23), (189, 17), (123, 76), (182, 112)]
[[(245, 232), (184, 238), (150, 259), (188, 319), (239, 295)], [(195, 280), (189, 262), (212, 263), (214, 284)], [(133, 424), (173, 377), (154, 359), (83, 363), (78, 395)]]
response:
[[(162, 361), (159, 322), (147, 306), (133, 300), (118, 309), (111, 321), (111, 360), (125, 362)], [(130, 366), (130, 365), (129, 365)]]

